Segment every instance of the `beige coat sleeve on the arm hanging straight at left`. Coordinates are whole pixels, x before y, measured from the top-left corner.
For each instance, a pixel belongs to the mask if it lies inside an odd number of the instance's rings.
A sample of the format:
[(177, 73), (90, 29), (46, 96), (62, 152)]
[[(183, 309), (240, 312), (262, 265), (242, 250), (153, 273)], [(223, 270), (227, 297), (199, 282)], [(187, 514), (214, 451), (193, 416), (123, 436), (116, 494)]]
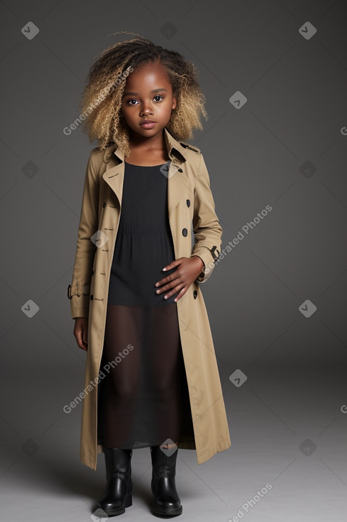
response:
[(99, 223), (99, 176), (95, 167), (95, 149), (89, 154), (84, 177), (82, 208), (72, 282), (67, 288), (72, 319), (88, 317), (89, 293), (96, 246), (91, 237)]

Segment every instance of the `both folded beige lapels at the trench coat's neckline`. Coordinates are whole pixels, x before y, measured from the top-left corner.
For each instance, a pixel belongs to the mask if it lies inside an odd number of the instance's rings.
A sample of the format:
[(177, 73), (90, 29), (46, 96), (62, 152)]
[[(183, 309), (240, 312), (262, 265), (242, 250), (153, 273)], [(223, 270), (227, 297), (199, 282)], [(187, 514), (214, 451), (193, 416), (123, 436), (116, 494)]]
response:
[[(162, 171), (163, 176), (167, 176), (167, 206), (170, 219), (170, 215), (182, 197), (183, 189), (187, 186), (187, 174), (185, 169), (182, 168), (184, 161), (187, 161), (187, 154), (184, 151), (184, 147), (171, 136), (167, 129), (164, 129), (164, 132), (167, 154), (170, 160), (162, 167)], [(110, 161), (111, 158), (113, 161)], [(105, 160), (109, 161), (102, 177), (116, 194), (121, 207), (125, 169), (124, 154), (118, 147), (114, 146), (113, 148), (111, 147), (111, 150), (106, 150)], [(116, 161), (116, 165), (112, 166), (114, 161)]]

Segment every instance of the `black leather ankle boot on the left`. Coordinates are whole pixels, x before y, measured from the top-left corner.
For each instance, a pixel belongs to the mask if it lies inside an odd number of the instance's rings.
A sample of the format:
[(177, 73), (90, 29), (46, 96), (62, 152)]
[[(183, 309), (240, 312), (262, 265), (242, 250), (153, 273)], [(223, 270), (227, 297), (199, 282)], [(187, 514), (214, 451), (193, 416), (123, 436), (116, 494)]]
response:
[(97, 507), (109, 516), (121, 515), (133, 504), (131, 480), (133, 450), (104, 447), (104, 454), (107, 484)]

